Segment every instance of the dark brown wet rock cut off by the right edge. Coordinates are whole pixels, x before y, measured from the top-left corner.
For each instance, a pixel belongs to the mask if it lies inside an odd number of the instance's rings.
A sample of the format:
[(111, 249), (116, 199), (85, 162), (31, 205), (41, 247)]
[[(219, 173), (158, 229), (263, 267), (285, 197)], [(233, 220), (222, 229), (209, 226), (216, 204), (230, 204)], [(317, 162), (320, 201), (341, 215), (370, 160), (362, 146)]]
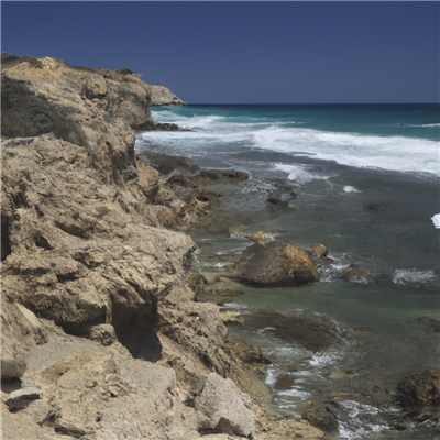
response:
[(419, 374), (407, 374), (397, 384), (400, 405), (411, 417), (439, 419), (440, 370), (429, 370)]

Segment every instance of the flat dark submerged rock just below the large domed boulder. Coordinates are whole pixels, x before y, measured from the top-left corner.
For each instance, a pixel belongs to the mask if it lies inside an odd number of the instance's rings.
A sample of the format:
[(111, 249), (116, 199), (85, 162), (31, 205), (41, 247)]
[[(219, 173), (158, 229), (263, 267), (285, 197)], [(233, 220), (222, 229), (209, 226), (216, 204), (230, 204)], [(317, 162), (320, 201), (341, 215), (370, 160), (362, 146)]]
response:
[(319, 351), (336, 342), (329, 327), (304, 316), (288, 316), (271, 311), (242, 312), (230, 321), (231, 328), (262, 330), (287, 341), (295, 341), (308, 350)]

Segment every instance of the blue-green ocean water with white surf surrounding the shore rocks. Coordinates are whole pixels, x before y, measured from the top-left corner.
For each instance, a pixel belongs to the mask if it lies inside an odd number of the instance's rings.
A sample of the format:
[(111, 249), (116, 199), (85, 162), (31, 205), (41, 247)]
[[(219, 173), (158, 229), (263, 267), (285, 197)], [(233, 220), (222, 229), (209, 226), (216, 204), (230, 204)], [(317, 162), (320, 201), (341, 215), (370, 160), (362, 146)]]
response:
[[(304, 248), (323, 243), (333, 258), (318, 283), (244, 287), (237, 302), (222, 306), (306, 316), (336, 336), (330, 348), (311, 352), (271, 328), (237, 331), (274, 360), (266, 377), (272, 410), (299, 417), (310, 398), (349, 393), (340, 400), (349, 421), (334, 438), (440, 438), (429, 427), (395, 430), (400, 410), (389, 404), (406, 373), (440, 366), (440, 333), (429, 321), (440, 319), (439, 106), (155, 107), (152, 117), (193, 131), (138, 134), (138, 151), (250, 174), (218, 189), (256, 223), (198, 238), (200, 271), (221, 272), (260, 230)], [(292, 210), (258, 220), (268, 195)], [(369, 272), (341, 279), (351, 264)], [(276, 387), (282, 376), (292, 376), (287, 389)]]

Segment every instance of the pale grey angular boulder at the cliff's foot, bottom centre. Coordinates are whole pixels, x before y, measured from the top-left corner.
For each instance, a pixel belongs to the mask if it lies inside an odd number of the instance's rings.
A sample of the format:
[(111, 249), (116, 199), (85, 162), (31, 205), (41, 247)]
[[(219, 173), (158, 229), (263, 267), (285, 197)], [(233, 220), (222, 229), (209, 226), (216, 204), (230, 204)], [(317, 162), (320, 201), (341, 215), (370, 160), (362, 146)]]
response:
[(255, 430), (251, 398), (241, 393), (234, 383), (216, 373), (197, 384), (199, 391), (194, 399), (195, 408), (204, 413), (205, 430), (250, 437)]

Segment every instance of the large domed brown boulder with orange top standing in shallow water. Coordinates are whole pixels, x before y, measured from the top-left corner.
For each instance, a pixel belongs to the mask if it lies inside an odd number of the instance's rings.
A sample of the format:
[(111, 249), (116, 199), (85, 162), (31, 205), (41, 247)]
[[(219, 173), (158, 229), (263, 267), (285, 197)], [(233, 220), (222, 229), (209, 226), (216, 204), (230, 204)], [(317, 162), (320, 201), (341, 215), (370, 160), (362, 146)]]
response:
[(258, 243), (245, 249), (232, 276), (257, 286), (289, 286), (318, 280), (318, 272), (299, 246), (283, 242)]

